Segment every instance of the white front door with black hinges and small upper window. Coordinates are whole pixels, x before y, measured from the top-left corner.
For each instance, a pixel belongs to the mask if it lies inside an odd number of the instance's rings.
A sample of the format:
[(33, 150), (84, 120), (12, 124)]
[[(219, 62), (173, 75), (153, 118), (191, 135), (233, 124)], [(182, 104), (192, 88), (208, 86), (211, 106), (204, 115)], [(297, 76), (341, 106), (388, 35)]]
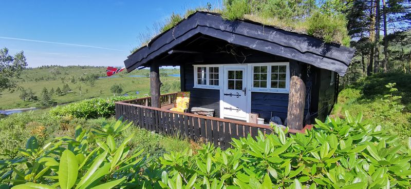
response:
[(225, 118), (247, 121), (247, 66), (224, 66), (221, 112)]

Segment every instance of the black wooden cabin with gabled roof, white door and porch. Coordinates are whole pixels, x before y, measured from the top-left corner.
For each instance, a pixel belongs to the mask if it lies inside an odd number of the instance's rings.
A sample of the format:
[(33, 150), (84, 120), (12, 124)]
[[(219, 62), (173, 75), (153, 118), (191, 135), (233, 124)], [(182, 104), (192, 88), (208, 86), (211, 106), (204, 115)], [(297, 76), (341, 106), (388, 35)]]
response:
[[(128, 72), (150, 68), (151, 97), (116, 103), (116, 116), (147, 124), (147, 114), (133, 118), (129, 111), (138, 110), (121, 107), (128, 103), (160, 111), (154, 115), (160, 119), (153, 119), (156, 124), (163, 121), (163, 113), (175, 113), (264, 128), (251, 123), (258, 116), (265, 124), (277, 117), (302, 130), (314, 118), (324, 120), (330, 113), (337, 100), (337, 74), (345, 74), (353, 54), (352, 48), (305, 34), (196, 12), (124, 61)], [(161, 66), (180, 67), (181, 91), (190, 92), (187, 113), (167, 110), (165, 105), (175, 94), (161, 96)], [(193, 107), (212, 109), (213, 117), (191, 114)]]

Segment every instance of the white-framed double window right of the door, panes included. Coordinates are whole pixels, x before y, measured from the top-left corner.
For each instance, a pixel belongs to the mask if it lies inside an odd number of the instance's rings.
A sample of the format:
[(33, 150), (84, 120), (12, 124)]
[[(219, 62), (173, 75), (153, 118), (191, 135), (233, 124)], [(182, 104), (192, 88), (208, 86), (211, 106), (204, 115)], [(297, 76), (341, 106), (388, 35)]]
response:
[(288, 62), (252, 64), (249, 70), (252, 70), (252, 91), (288, 92), (290, 85)]

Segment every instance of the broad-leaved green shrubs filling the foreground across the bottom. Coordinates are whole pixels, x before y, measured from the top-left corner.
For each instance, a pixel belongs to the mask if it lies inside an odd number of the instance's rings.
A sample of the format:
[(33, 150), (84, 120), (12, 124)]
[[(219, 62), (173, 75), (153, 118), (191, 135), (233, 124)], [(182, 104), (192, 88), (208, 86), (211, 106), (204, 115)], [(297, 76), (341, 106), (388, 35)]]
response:
[(305, 134), (286, 137), (288, 129), (274, 127), (275, 134), (233, 139), (232, 149), (208, 143), (196, 153), (187, 149), (158, 159), (131, 152), (133, 134), (118, 138), (128, 126), (78, 127), (74, 137), (44, 146), (31, 137), (17, 157), (0, 161), (0, 182), (5, 188), (103, 188), (103, 183), (121, 188), (411, 187), (411, 143), (401, 145), (361, 114), (317, 120)]

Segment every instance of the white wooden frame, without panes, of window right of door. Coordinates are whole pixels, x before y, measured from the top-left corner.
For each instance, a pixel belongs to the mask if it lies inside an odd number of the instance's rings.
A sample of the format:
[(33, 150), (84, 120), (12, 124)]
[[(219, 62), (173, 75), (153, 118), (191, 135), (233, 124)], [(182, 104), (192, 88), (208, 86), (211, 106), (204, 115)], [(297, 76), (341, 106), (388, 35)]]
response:
[[(256, 88), (254, 87), (254, 67), (255, 66), (267, 66), (267, 87), (265, 88)], [(286, 88), (277, 89), (271, 88), (271, 66), (286, 66)], [(289, 93), (290, 91), (290, 62), (269, 62), (269, 63), (258, 63), (258, 64), (249, 64), (248, 70), (251, 70), (248, 78), (251, 78), (249, 82), (250, 89), (252, 92), (269, 92), (269, 93)]]

